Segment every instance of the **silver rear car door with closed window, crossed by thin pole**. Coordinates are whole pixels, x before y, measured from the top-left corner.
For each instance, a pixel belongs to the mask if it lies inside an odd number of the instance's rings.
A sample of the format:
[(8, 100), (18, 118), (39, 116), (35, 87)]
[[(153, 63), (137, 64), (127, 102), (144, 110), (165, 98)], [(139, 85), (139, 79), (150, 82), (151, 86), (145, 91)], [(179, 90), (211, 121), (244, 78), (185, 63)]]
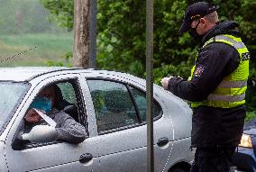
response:
[[(96, 113), (100, 171), (146, 171), (145, 92), (120, 78), (87, 78), (87, 84)], [(172, 137), (172, 126), (156, 100), (154, 115), (155, 170), (163, 171), (171, 153), (167, 137)]]

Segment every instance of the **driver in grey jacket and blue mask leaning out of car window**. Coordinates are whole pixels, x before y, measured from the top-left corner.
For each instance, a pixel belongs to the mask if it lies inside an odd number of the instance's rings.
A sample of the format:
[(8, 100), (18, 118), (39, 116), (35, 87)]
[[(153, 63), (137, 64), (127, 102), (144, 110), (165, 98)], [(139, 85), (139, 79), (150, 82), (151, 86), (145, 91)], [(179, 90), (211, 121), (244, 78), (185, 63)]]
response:
[(56, 122), (57, 140), (64, 140), (70, 143), (83, 142), (87, 137), (86, 128), (76, 122), (68, 113), (59, 111), (55, 107), (56, 98), (54, 86), (47, 86), (41, 90), (24, 117), (25, 131), (30, 131), (33, 126), (38, 124), (47, 124), (40, 114), (34, 110), (37, 109)]

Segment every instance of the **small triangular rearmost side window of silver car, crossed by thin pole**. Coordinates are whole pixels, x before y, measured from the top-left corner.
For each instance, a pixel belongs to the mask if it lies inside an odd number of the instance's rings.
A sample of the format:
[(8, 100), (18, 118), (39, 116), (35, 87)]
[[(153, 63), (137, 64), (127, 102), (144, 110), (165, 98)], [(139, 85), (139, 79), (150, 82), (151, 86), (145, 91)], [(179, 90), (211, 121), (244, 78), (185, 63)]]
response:
[[(130, 86), (133, 98), (135, 103), (137, 104), (139, 115), (141, 117), (142, 122), (146, 122), (146, 111), (147, 111), (147, 100), (146, 93), (142, 92), (139, 89)], [(161, 115), (162, 111), (160, 108), (160, 104), (158, 104), (155, 100), (153, 101), (153, 116), (154, 118)]]

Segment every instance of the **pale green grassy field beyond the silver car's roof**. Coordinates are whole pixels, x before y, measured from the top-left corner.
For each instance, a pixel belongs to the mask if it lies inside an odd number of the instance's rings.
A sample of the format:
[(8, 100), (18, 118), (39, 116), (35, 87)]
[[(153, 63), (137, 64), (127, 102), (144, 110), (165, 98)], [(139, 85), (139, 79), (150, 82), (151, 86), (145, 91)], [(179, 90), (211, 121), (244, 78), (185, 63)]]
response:
[(0, 67), (46, 66), (49, 60), (68, 64), (61, 57), (72, 51), (72, 43), (72, 33), (0, 35), (0, 60), (22, 52), (19, 56), (1, 62)]

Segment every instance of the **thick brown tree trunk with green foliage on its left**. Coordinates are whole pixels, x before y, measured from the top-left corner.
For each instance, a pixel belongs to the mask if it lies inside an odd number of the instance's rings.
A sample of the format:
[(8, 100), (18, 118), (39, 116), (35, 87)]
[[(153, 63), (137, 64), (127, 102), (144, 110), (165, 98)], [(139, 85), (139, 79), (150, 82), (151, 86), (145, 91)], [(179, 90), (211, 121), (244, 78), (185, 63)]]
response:
[(87, 68), (89, 57), (89, 0), (41, 0), (50, 20), (71, 31), (74, 28), (73, 67)]

